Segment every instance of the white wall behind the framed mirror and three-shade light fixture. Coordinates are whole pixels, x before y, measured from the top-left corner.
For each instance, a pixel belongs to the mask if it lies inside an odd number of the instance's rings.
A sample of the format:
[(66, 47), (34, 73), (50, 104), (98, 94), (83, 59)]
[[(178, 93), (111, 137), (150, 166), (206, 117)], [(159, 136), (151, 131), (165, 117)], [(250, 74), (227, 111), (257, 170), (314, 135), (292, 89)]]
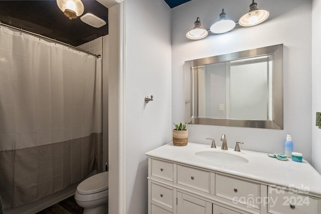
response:
[(185, 36), (194, 27), (198, 16), (207, 29), (218, 20), (222, 8), (228, 19), (238, 21), (249, 10), (251, 1), (194, 0), (172, 10), (172, 121), (184, 120), (184, 61), (283, 43), (284, 130), (188, 125), (189, 141), (210, 144), (205, 138), (214, 137), (220, 144), (219, 139), (225, 133), (231, 148), (234, 148), (236, 141), (243, 141), (245, 144), (241, 149), (284, 152), (285, 135), (290, 134), (294, 150), (303, 153), (303, 158), (310, 162), (312, 2), (256, 2), (258, 8), (270, 12), (266, 22), (198, 41), (188, 40)]

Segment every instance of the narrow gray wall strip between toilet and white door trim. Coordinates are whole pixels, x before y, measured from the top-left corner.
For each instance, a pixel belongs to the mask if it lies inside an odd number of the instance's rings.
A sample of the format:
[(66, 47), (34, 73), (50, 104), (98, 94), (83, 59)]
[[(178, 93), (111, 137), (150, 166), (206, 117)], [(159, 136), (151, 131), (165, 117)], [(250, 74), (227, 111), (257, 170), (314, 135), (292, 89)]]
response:
[[(108, 213), (118, 213), (118, 54), (119, 54), (119, 4), (108, 9), (108, 142), (109, 185)], [(111, 125), (112, 124), (112, 125)]]

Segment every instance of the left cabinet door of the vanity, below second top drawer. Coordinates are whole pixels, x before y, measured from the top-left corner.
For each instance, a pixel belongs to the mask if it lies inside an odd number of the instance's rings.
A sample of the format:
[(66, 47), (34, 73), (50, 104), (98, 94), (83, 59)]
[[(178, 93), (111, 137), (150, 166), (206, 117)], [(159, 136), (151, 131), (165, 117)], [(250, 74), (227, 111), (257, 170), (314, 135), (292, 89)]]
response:
[(177, 192), (177, 214), (212, 214), (212, 203)]

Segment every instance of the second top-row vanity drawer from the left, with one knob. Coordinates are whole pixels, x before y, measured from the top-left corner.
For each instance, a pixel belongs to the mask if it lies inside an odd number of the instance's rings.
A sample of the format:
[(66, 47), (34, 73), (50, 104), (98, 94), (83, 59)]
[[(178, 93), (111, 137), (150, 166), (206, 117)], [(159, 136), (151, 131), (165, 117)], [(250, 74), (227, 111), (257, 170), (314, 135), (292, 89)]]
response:
[(210, 172), (187, 166), (177, 166), (177, 183), (210, 192)]

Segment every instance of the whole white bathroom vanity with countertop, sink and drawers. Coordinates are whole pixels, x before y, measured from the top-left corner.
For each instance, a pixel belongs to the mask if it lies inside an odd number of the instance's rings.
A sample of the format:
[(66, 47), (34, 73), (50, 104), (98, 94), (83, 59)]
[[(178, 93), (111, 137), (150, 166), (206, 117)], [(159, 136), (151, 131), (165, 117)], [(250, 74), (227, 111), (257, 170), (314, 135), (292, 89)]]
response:
[(149, 214), (321, 213), (321, 176), (305, 160), (190, 142), (146, 155)]

